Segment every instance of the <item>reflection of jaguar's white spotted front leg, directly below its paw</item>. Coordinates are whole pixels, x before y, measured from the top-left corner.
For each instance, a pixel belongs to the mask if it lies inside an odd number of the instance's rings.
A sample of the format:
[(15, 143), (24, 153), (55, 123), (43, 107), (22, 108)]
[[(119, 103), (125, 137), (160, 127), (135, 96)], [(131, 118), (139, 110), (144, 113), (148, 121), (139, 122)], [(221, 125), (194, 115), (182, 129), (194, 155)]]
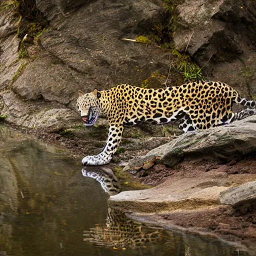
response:
[(107, 167), (83, 167), (82, 175), (96, 179), (103, 190), (109, 195), (114, 195), (120, 192), (120, 185), (112, 170)]

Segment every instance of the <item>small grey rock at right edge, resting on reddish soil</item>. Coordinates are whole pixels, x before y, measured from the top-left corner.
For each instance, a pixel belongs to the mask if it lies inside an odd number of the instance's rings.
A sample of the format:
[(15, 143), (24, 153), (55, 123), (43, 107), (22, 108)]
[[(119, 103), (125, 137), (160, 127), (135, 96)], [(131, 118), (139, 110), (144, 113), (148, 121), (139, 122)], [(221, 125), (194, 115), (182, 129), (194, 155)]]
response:
[(256, 203), (256, 181), (233, 186), (220, 193), (220, 202), (234, 208), (247, 203)]

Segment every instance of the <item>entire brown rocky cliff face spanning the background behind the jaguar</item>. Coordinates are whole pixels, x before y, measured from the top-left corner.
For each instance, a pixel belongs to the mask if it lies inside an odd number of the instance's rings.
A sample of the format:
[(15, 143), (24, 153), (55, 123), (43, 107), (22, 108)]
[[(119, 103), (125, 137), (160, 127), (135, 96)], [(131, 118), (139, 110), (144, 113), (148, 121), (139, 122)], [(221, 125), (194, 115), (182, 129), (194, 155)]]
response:
[[(195, 62), (203, 66), (208, 61), (202, 69), (205, 78), (227, 82), (242, 95), (254, 97), (252, 0), (35, 3), (49, 25), (36, 40), (25, 42), (27, 54), (22, 55), (14, 1), (1, 0), (0, 109), (10, 122), (49, 130), (74, 126), (79, 120), (74, 111), (78, 89), (88, 92), (119, 83), (140, 86), (155, 71), (167, 76), (169, 51), (155, 43), (120, 40), (141, 34), (153, 37), (161, 22), (169, 25), (168, 38), (173, 38), (177, 50), (184, 52), (188, 43), (186, 53)], [(167, 15), (169, 9), (174, 11)], [(162, 77), (154, 81), (157, 86), (163, 86)], [(181, 82), (171, 69), (168, 84)]]

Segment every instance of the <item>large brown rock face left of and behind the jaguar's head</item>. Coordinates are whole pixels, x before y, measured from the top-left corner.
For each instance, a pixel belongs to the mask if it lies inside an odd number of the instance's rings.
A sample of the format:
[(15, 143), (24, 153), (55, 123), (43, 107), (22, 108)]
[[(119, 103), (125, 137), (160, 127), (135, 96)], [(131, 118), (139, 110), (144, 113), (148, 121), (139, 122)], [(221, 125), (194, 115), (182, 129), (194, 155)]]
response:
[(14, 10), (0, 10), (0, 110), (7, 121), (65, 129), (79, 118), (78, 89), (90, 92), (122, 82), (139, 86), (156, 70), (167, 74), (169, 57), (164, 51), (119, 40), (149, 31), (160, 18), (160, 3), (36, 0), (36, 6), (49, 20), (49, 29), (37, 43), (27, 44), (26, 58), (18, 57)]

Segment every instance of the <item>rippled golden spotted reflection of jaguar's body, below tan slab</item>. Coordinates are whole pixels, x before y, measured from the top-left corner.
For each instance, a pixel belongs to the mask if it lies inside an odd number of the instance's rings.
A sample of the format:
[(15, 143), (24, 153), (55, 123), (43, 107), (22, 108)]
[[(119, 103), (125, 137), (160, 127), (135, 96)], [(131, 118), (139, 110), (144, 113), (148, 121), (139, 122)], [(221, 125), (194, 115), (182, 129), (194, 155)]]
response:
[(83, 240), (116, 249), (146, 247), (160, 240), (160, 231), (161, 228), (148, 227), (127, 218), (123, 211), (108, 207), (105, 225), (84, 231)]

